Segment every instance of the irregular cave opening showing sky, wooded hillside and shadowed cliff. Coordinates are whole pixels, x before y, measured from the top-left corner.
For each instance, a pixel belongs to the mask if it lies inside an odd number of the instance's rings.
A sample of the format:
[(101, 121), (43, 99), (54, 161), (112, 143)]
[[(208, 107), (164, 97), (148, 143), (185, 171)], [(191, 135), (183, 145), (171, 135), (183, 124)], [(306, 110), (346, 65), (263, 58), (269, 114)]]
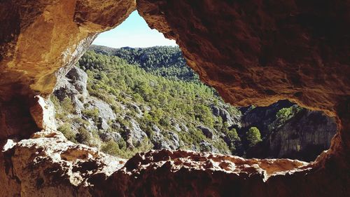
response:
[(50, 100), (67, 139), (122, 158), (184, 149), (314, 161), (337, 131), (334, 118), (288, 100), (225, 103), (137, 11), (97, 36)]

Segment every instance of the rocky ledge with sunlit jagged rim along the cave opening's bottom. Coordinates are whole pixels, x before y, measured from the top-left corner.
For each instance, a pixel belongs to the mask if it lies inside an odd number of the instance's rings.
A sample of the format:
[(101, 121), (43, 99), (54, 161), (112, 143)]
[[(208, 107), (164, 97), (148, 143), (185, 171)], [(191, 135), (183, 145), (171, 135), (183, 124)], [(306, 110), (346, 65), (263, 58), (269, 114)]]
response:
[(199, 179), (195, 187), (225, 179), (246, 182), (253, 178), (264, 184), (269, 177), (311, 169), (309, 163), (297, 160), (246, 160), (181, 150), (153, 150), (126, 161), (73, 144), (53, 130), (34, 133), (20, 142), (7, 140), (0, 157), (4, 161), (0, 168), (4, 191), (0, 196), (127, 196), (129, 192), (134, 196), (162, 196), (170, 179), (179, 179), (170, 186), (183, 191), (184, 196), (202, 196), (211, 188), (192, 190), (182, 184), (201, 177), (205, 179)]

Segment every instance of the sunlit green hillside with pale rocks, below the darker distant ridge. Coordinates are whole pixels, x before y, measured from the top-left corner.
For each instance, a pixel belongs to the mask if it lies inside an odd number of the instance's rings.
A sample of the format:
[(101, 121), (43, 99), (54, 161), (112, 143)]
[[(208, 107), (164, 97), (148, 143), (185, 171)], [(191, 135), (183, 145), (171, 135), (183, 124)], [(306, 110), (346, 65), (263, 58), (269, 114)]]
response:
[[(158, 76), (153, 74), (156, 69), (146, 72), (138, 64), (92, 50), (81, 57), (78, 67), (87, 73), (87, 93), (76, 99), (64, 85), (52, 97), (57, 119), (63, 123), (59, 130), (69, 139), (125, 157), (151, 148), (235, 153), (239, 137), (228, 128), (240, 111), (225, 104), (213, 88)], [(226, 111), (229, 119), (215, 116), (213, 107)]]

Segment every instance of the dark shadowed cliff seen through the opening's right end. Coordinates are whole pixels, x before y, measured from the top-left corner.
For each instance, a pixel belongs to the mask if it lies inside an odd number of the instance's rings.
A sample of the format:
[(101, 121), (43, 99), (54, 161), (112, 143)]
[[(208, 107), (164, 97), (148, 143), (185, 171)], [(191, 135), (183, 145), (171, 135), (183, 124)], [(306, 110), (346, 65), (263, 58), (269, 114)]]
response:
[[(276, 116), (283, 108), (295, 109), (286, 119)], [(321, 111), (302, 109), (282, 100), (269, 107), (244, 107), (242, 125), (239, 133), (257, 127), (262, 134), (262, 142), (248, 149), (248, 158), (297, 158), (314, 161), (325, 149), (330, 147), (332, 137), (337, 131), (334, 118)]]

